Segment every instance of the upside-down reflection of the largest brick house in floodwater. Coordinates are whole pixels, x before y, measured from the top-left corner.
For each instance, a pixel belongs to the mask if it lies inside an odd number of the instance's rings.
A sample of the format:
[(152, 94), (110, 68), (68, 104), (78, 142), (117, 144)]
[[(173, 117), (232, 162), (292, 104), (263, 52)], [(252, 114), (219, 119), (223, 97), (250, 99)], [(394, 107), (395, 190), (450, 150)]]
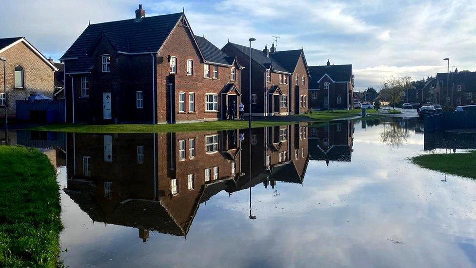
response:
[(186, 236), (240, 176), (239, 131), (69, 134), (66, 193), (93, 221)]

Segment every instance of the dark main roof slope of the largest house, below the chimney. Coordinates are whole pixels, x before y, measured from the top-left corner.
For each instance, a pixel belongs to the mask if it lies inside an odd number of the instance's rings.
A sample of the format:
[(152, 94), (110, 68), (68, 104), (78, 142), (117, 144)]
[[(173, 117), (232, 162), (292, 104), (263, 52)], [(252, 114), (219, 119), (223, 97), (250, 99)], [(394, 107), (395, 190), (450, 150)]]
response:
[(78, 58), (67, 64), (67, 72), (89, 71), (88, 52), (101, 37), (118, 51), (128, 53), (157, 52), (183, 13), (167, 14), (123, 21), (90, 24), (64, 53), (61, 59)]

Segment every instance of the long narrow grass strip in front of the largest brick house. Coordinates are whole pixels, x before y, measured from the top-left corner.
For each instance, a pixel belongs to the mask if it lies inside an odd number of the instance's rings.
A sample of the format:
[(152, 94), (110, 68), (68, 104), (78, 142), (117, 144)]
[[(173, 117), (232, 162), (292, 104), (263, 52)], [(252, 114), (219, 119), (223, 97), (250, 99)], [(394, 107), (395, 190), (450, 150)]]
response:
[[(253, 122), (252, 127), (293, 124), (294, 122)], [(76, 133), (164, 133), (164, 132), (193, 132), (208, 130), (227, 130), (247, 128), (248, 121), (212, 121), (185, 124), (52, 124), (37, 126), (31, 130), (76, 132)]]

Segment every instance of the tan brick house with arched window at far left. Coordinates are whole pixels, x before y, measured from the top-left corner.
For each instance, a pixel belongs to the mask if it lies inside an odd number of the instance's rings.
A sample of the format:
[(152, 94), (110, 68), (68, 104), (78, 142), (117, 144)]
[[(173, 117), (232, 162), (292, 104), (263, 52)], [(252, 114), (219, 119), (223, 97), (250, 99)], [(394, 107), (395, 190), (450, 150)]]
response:
[[(0, 57), (6, 59), (6, 106), (8, 117), (15, 117), (15, 102), (40, 93), (53, 98), (54, 72), (58, 69), (24, 37), (0, 39)], [(3, 64), (0, 61), (0, 81), (3, 84)], [(5, 96), (0, 90), (0, 106), (4, 117)]]

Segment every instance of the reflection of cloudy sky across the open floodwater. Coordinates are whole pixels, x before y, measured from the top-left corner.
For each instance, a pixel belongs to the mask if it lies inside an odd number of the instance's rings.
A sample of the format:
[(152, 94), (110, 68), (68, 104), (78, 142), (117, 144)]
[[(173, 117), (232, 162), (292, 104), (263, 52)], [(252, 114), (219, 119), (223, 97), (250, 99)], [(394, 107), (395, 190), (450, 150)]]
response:
[[(351, 162), (310, 161), (303, 185), (262, 184), (201, 204), (187, 235), (92, 223), (61, 194), (71, 267), (474, 267), (476, 184), (421, 169), (423, 135), (380, 143), (383, 125), (355, 124)], [(64, 182), (65, 170), (59, 178)], [(402, 243), (397, 243), (402, 242)]]

